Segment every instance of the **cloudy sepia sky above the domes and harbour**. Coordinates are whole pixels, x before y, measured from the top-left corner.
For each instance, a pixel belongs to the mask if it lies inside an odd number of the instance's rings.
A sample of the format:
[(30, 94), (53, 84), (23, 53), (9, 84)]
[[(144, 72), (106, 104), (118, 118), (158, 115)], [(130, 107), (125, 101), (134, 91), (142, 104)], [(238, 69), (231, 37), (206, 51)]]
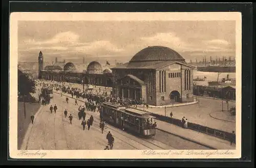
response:
[(129, 61), (147, 46), (177, 51), (186, 61), (235, 57), (235, 21), (18, 21), (18, 61)]

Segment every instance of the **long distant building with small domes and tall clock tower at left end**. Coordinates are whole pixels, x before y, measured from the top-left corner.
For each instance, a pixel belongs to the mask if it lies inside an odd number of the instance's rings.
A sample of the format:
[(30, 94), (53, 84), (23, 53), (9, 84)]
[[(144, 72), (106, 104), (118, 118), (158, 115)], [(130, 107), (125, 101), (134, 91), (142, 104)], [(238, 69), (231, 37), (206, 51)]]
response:
[[(78, 64), (78, 66), (81, 65)], [(101, 65), (96, 61), (91, 62), (87, 69), (77, 69), (77, 66), (72, 62), (58, 62), (55, 59), (53, 65), (47, 65), (44, 68), (44, 57), (41, 51), (38, 56), (38, 78), (59, 82), (83, 82), (84, 84), (108, 87), (113, 84), (111, 71), (103, 71)]]

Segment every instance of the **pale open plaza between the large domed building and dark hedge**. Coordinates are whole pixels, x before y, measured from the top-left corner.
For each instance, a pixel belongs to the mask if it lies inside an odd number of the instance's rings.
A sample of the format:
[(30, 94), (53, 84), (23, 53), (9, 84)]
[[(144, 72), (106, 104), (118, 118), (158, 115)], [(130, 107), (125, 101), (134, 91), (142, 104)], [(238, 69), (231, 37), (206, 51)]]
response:
[[(199, 124), (202, 126), (206, 126), (209, 128), (232, 132), (236, 131), (236, 122), (229, 122), (225, 121), (225, 118), (218, 119), (213, 118), (210, 116), (211, 113), (215, 113), (221, 111), (222, 103), (218, 100), (210, 100), (210, 99), (203, 99), (198, 98), (199, 102), (197, 104), (187, 105), (187, 106), (180, 106), (180, 107), (166, 107), (165, 108), (146, 108), (143, 106), (137, 106), (139, 110), (145, 110), (150, 113), (168, 116), (170, 117), (170, 112), (173, 112), (173, 118), (181, 119), (185, 116), (188, 119), (188, 122)], [(233, 102), (229, 102), (229, 107), (234, 105)], [(226, 102), (223, 103), (223, 109), (227, 110)]]

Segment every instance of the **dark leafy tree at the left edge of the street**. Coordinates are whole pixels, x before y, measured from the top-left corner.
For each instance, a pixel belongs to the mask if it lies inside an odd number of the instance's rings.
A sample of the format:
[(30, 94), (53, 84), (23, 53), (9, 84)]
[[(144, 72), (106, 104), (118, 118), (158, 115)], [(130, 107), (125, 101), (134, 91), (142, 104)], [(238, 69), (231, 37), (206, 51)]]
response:
[(26, 118), (25, 97), (35, 93), (35, 82), (29, 76), (18, 69), (18, 96), (22, 95), (24, 105), (24, 117)]

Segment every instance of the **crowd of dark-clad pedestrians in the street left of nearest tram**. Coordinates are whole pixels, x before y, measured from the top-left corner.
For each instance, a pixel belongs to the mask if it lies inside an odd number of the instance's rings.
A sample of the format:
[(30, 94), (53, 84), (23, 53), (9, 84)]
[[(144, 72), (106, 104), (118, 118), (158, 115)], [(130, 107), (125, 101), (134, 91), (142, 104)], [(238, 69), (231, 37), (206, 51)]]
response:
[[(60, 91), (61, 97), (62, 97), (62, 93), (71, 94), (72, 98), (74, 98), (74, 96), (76, 98), (82, 97), (85, 103), (84, 105), (80, 105), (78, 107), (78, 119), (79, 121), (82, 120), (81, 126), (83, 130), (86, 130), (86, 127), (88, 130), (90, 130), (94, 122), (93, 115), (91, 115), (90, 118), (86, 119), (86, 109), (91, 112), (96, 112), (96, 110), (100, 112), (100, 106), (103, 102), (118, 103), (117, 99), (115, 99), (110, 94), (108, 94), (108, 92), (106, 91), (106, 88), (103, 91), (100, 90), (100, 88), (99, 90), (96, 90), (93, 88), (93, 89), (86, 89), (82, 91), (79, 87), (76, 87), (74, 84), (65, 83), (65, 82), (56, 82), (56, 81), (44, 81), (44, 80), (36, 80), (35, 84), (37, 87), (51, 87), (56, 91)], [(69, 103), (68, 97), (66, 97), (66, 102), (67, 104)], [(77, 100), (75, 100), (75, 105), (78, 106)], [(56, 113), (57, 109), (58, 108), (56, 104), (54, 105), (54, 107), (53, 105), (50, 106), (51, 113), (53, 111)], [(73, 115), (70, 114), (68, 116), (68, 109), (64, 110), (64, 115), (65, 115), (65, 118), (69, 119), (70, 124), (72, 124)], [(34, 116), (31, 116), (31, 121), (33, 124)], [(103, 131), (105, 128), (104, 121), (102, 120), (100, 121), (99, 128), (101, 129), (101, 132), (103, 134)], [(114, 144), (113, 135), (109, 132), (108, 135), (106, 136), (106, 139), (108, 140), (108, 148), (106, 150), (112, 150), (113, 144)]]

